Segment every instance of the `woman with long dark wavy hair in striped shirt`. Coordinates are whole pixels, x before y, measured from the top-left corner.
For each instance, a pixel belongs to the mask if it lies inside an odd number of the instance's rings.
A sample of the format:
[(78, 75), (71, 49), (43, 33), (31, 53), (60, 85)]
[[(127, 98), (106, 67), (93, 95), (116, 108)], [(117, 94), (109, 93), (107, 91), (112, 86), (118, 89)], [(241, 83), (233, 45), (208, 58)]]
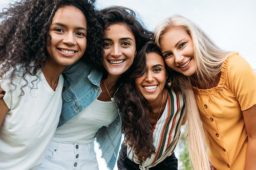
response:
[[(124, 133), (118, 169), (177, 169), (174, 149), (180, 127), (186, 121), (184, 104), (186, 108), (191, 107), (193, 102), (188, 99), (194, 94), (173, 86), (169, 80), (174, 80), (172, 70), (166, 66), (157, 44), (148, 42), (136, 55), (131, 72), (127, 72), (116, 94), (117, 105), (123, 113)], [(189, 117), (190, 110), (186, 109), (186, 114)], [(205, 149), (194, 150), (201, 153)], [(207, 157), (202, 161), (208, 162)], [(193, 161), (193, 164), (202, 163)]]

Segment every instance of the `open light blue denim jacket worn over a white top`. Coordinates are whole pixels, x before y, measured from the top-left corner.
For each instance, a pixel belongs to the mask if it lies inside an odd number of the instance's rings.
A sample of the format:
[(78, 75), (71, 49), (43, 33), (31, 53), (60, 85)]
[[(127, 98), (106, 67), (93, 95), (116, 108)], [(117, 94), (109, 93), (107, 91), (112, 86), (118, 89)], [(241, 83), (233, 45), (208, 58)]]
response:
[[(64, 91), (62, 92), (63, 104), (58, 127), (80, 113), (101, 93), (102, 72), (92, 69), (90, 65), (77, 61), (67, 67), (63, 74), (65, 78)], [(99, 129), (96, 134), (96, 141), (99, 143), (102, 157), (108, 168), (113, 169), (121, 142), (120, 113), (111, 125)]]

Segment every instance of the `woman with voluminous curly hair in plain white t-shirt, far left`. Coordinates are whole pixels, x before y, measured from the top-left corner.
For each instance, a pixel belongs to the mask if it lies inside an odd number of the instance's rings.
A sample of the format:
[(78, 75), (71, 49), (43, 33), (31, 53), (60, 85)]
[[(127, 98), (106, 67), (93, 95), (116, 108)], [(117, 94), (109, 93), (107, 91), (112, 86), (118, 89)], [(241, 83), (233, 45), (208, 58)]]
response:
[(61, 72), (80, 58), (102, 65), (101, 27), (78, 0), (19, 1), (0, 17), (0, 169), (37, 169), (58, 125)]

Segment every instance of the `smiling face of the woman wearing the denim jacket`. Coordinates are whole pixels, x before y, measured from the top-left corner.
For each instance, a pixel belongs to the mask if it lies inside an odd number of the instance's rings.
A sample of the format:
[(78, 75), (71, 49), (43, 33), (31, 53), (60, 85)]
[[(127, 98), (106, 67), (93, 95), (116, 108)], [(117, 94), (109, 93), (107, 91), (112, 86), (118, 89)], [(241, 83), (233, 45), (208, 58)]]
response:
[(103, 65), (109, 76), (120, 77), (133, 63), (136, 42), (133, 33), (122, 23), (104, 30)]

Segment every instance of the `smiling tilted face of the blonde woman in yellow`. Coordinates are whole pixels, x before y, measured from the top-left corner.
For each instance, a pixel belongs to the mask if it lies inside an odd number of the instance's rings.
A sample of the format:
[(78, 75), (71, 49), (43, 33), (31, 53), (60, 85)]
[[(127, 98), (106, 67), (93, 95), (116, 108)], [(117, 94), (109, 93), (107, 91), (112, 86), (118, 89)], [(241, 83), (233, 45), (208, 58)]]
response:
[(193, 41), (183, 29), (169, 29), (159, 42), (162, 55), (170, 68), (185, 76), (196, 72)]

